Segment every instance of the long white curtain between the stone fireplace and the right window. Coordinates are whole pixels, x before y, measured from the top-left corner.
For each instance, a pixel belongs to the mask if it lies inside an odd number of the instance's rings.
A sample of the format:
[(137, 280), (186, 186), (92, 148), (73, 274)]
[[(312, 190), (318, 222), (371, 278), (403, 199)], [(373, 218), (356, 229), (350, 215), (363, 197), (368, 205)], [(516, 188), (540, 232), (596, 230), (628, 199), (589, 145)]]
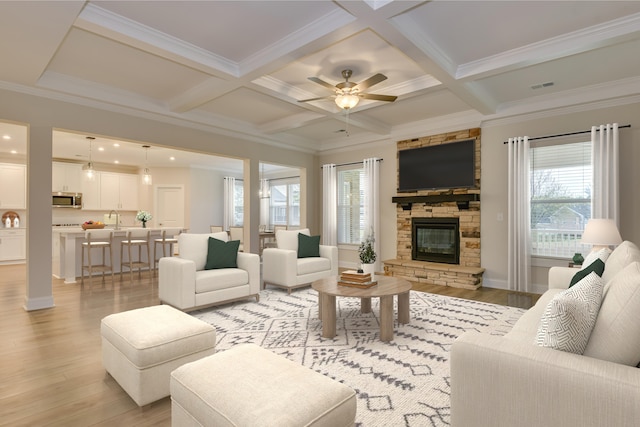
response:
[(507, 280), (509, 289), (530, 292), (531, 205), (529, 138), (509, 138)]

